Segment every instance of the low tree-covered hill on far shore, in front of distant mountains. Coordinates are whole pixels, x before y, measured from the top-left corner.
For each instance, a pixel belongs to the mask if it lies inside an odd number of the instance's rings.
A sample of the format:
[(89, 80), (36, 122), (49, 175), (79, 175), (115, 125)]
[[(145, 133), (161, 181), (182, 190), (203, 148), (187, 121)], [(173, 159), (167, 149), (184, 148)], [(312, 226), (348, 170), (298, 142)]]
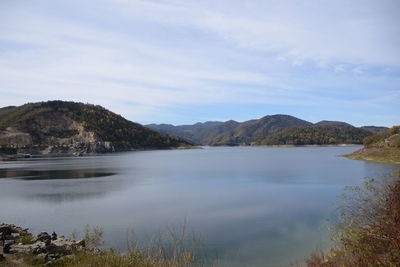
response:
[(362, 144), (370, 132), (352, 126), (290, 127), (262, 139), (257, 145)]

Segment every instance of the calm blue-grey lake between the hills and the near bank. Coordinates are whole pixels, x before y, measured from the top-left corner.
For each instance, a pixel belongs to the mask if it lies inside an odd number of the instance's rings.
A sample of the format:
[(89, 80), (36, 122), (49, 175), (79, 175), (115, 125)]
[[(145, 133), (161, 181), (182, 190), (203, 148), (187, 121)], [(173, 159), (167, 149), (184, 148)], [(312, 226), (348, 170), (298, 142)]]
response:
[(328, 246), (345, 186), (397, 165), (337, 157), (350, 147), (206, 147), (0, 163), (0, 222), (34, 233), (104, 229), (105, 246), (186, 221), (218, 266), (287, 266)]

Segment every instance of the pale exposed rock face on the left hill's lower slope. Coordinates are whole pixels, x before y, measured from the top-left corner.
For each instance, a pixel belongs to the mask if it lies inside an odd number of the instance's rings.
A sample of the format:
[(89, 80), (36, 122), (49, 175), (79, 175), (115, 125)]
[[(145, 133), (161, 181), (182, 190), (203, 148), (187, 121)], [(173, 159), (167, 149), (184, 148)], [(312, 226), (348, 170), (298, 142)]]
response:
[(111, 142), (61, 113), (45, 113), (0, 131), (0, 146), (19, 154), (86, 154), (113, 152)]

